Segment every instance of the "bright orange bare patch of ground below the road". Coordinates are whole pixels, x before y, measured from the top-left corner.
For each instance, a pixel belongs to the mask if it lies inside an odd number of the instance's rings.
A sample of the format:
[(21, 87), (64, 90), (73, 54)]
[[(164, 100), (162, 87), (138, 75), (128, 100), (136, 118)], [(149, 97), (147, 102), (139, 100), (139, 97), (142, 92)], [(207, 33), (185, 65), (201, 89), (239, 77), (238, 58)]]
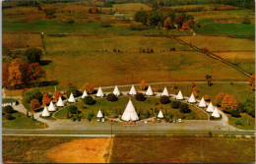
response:
[(60, 144), (47, 152), (56, 163), (106, 163), (111, 138), (82, 138)]

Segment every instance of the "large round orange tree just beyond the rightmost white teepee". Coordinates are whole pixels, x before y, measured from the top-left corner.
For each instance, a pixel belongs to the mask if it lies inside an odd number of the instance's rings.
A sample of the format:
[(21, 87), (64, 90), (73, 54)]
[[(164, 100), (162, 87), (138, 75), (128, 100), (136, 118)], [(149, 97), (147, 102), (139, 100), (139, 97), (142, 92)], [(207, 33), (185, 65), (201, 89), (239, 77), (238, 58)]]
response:
[(223, 103), (222, 103), (222, 108), (224, 111), (230, 113), (232, 110), (236, 110), (238, 107), (238, 103), (235, 100), (235, 98), (231, 95), (224, 95)]

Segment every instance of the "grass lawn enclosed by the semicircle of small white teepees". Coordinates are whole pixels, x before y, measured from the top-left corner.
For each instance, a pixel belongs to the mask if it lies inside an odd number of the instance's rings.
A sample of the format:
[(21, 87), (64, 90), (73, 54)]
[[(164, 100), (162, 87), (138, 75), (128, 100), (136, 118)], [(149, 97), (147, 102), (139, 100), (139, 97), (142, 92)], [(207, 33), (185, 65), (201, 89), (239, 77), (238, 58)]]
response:
[[(118, 114), (121, 116), (124, 112), (124, 109), (128, 103), (129, 97), (128, 96), (120, 96), (118, 97), (118, 100), (115, 102), (109, 102), (106, 100), (106, 98), (96, 98), (96, 104), (95, 105), (85, 105), (83, 102), (78, 102), (76, 106), (78, 109), (82, 112), (82, 118), (87, 118), (87, 113), (91, 112), (94, 113), (94, 118), (96, 118), (96, 114), (98, 109), (101, 109), (101, 111), (104, 111), (106, 116), (109, 116), (112, 111), (113, 113)], [(183, 118), (185, 120), (205, 120), (207, 119), (207, 115), (200, 111), (198, 108), (190, 106), (191, 113), (189, 114), (181, 114), (179, 112), (179, 109), (173, 109), (170, 107), (170, 104), (160, 104), (159, 98), (155, 97), (148, 97), (144, 102), (139, 102), (132, 97), (132, 102), (134, 107), (136, 108), (136, 111), (138, 114), (140, 114), (140, 118), (145, 118), (146, 110), (149, 110), (152, 115), (152, 117), (156, 117), (159, 112), (155, 112), (155, 109), (158, 110), (162, 109), (163, 115), (166, 117), (166, 113), (168, 114), (168, 117), (170, 114), (173, 116), (173, 119), (179, 119)], [(153, 111), (151, 110), (153, 109)], [(110, 114), (111, 115), (111, 114)], [(66, 119), (67, 118), (67, 109), (63, 108), (60, 111), (56, 112), (54, 114), (54, 117), (59, 119)]]

